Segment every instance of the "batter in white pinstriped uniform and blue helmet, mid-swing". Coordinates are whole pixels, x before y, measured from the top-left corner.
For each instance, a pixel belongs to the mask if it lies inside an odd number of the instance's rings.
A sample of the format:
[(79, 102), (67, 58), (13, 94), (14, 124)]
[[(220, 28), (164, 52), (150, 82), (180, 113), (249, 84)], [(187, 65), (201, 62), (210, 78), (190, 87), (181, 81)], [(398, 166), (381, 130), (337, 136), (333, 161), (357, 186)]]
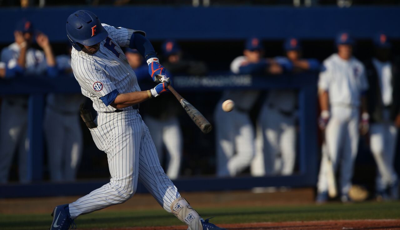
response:
[[(138, 180), (167, 211), (190, 230), (221, 230), (203, 220), (164, 173), (138, 104), (168, 92), (170, 79), (145, 33), (101, 24), (90, 11), (78, 10), (66, 23), (72, 44), (71, 66), (82, 94), (93, 101), (97, 117), (88, 121), (96, 146), (106, 152), (111, 179), (108, 184), (70, 204), (56, 206), (51, 230), (68, 229), (74, 219), (120, 204), (133, 196)], [(136, 48), (148, 63), (149, 74), (159, 84), (141, 91), (121, 47)]]

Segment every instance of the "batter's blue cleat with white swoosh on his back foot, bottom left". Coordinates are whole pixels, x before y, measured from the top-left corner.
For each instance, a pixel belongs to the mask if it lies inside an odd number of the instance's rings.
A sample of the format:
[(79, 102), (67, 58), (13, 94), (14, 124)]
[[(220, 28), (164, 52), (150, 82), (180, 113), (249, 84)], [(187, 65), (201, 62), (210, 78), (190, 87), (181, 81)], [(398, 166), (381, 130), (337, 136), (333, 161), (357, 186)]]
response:
[(54, 208), (53, 213), (51, 214), (53, 217), (53, 222), (51, 223), (49, 230), (76, 229), (74, 220), (70, 216), (70, 209), (68, 205), (69, 204), (63, 204)]

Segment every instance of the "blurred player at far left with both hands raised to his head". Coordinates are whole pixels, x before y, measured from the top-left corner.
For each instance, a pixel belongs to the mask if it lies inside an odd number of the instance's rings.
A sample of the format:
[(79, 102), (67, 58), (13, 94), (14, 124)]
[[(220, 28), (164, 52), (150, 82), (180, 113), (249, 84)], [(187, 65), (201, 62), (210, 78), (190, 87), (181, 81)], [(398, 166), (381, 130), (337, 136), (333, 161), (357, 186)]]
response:
[[(34, 33), (32, 23), (21, 20), (14, 31), (15, 42), (1, 52), (1, 62), (6, 64), (9, 77), (22, 74), (56, 74), (56, 61), (49, 40), (45, 34)], [(43, 49), (31, 47), (33, 40)], [(8, 181), (8, 174), (14, 152), (19, 153), (18, 176), (20, 182), (30, 182), (27, 170), (29, 139), (28, 97), (4, 97), (0, 118), (0, 183)]]

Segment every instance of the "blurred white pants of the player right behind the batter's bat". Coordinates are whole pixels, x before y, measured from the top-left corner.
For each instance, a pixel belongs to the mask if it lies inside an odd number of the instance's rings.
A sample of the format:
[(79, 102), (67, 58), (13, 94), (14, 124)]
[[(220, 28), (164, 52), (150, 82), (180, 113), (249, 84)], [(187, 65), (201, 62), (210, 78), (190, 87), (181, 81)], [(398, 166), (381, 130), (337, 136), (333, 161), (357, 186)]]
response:
[(163, 146), (166, 148), (168, 154), (166, 173), (168, 177), (172, 180), (178, 178), (183, 146), (182, 131), (180, 130), (178, 118), (159, 120), (146, 116), (145, 120), (161, 163), (164, 160)]

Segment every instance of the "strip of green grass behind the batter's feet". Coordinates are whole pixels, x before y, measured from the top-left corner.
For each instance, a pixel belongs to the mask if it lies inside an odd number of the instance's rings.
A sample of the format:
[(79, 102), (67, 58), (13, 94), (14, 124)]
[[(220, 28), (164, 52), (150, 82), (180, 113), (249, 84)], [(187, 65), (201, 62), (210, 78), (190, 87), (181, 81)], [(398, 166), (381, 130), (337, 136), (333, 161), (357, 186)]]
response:
[[(398, 219), (400, 202), (365, 202), (356, 204), (326, 204), (303, 206), (268, 206), (234, 208), (200, 208), (204, 218), (215, 216), (212, 222), (281, 222), (301, 220), (340, 220), (340, 219)], [(2, 230), (44, 230), (48, 229), (52, 218), (49, 214), (0, 215)], [(180, 225), (178, 219), (164, 210), (101, 211), (80, 216), (76, 221), (78, 229), (118, 228), (134, 226)]]

